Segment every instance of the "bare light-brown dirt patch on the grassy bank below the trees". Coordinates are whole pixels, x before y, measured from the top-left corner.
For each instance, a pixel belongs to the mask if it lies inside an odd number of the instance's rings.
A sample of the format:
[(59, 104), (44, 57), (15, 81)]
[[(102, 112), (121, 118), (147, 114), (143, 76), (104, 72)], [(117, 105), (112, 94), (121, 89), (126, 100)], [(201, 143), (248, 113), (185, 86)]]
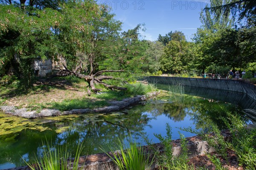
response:
[[(34, 86), (43, 88), (36, 88), (36, 90), (29, 92), (26, 95), (9, 96), (1, 105), (16, 106), (16, 107), (32, 107), (38, 104), (61, 102), (64, 99), (75, 99), (88, 97), (86, 83), (71, 84), (67, 81), (37, 81)], [(91, 98), (91, 97), (90, 97)]]

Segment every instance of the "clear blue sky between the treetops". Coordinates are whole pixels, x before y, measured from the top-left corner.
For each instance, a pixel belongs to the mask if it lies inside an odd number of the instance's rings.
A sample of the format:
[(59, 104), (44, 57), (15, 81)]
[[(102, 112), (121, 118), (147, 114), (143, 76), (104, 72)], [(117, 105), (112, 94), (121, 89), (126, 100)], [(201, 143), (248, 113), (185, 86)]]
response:
[(98, 0), (98, 3), (112, 7), (115, 19), (122, 21), (123, 31), (145, 23), (146, 40), (157, 40), (175, 30), (181, 31), (187, 40), (201, 26), (201, 9), (209, 0)]

